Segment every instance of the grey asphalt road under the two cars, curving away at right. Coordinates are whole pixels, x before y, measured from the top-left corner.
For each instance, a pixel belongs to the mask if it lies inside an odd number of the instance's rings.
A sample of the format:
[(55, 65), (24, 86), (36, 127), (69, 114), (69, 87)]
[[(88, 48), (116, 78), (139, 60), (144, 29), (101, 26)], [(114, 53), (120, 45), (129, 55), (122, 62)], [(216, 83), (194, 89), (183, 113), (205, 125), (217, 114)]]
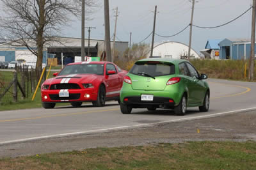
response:
[(105, 107), (56, 107), (54, 109), (25, 109), (0, 112), (0, 145), (55, 137), (95, 134), (134, 127), (148, 127), (156, 123), (209, 118), (241, 111), (256, 110), (256, 83), (208, 79), (211, 88), (209, 112), (189, 108), (186, 116), (173, 111), (133, 109), (122, 114), (117, 102)]

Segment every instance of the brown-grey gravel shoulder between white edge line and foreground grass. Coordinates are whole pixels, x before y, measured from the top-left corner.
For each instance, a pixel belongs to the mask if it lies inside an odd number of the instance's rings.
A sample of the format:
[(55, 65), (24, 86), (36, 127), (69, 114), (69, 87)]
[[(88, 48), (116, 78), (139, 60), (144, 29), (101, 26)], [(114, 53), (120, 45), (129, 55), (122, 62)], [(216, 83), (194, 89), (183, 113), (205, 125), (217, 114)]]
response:
[(0, 157), (186, 141), (256, 141), (256, 112), (0, 146)]

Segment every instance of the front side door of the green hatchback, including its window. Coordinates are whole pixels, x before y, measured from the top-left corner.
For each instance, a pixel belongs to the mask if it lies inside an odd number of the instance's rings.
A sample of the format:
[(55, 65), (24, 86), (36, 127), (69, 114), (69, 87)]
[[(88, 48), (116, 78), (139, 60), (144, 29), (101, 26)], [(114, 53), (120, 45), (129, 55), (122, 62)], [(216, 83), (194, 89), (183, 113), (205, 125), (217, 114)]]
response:
[(186, 62), (186, 65), (188, 66), (188, 70), (190, 73), (191, 95), (193, 98), (191, 104), (199, 104), (204, 98), (204, 84), (202, 80), (199, 79), (199, 74), (195, 67), (188, 62)]

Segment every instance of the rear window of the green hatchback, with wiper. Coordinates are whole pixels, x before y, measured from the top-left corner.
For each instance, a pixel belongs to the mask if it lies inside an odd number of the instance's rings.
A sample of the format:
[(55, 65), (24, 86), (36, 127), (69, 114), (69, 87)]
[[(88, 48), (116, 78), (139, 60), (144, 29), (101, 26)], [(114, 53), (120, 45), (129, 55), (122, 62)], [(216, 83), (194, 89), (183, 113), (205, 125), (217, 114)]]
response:
[(147, 77), (175, 74), (175, 66), (172, 63), (161, 63), (158, 61), (137, 62), (130, 73)]

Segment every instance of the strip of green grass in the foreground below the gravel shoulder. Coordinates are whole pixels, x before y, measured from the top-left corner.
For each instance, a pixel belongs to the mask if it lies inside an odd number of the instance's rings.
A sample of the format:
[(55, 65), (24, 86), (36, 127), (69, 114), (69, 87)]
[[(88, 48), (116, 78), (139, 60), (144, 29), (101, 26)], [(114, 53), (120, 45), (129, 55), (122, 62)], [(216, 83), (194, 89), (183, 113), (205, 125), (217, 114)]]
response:
[(256, 143), (189, 142), (0, 159), (2, 169), (255, 169)]

